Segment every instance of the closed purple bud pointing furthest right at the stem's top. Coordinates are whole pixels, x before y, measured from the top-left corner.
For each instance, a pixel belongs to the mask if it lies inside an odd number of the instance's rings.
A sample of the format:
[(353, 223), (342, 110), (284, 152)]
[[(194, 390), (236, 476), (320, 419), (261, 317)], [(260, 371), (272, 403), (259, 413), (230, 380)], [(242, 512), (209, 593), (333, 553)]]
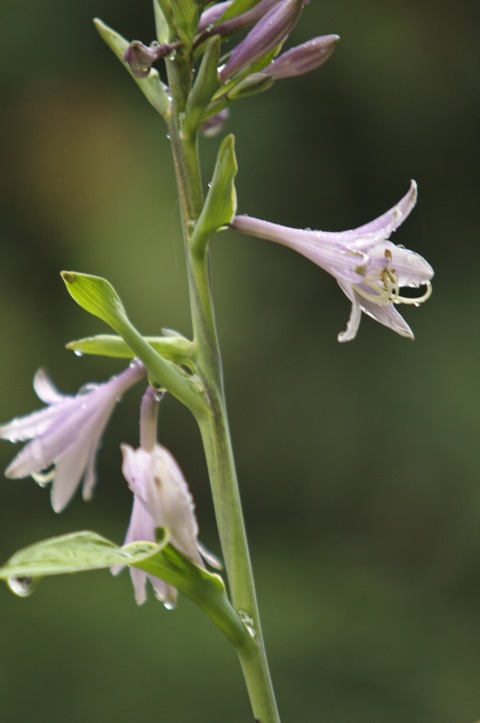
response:
[(310, 73), (329, 59), (339, 40), (338, 35), (321, 35), (308, 40), (279, 55), (262, 70), (262, 73), (276, 80)]

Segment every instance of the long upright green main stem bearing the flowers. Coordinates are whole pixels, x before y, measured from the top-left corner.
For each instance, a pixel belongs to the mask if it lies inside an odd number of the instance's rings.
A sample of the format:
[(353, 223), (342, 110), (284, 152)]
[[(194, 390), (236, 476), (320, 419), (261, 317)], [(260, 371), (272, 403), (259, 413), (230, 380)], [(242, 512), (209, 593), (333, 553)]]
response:
[(182, 136), (191, 68), (183, 58), (167, 62), (173, 112), (170, 142), (179, 191), (196, 344), (196, 373), (206, 390), (208, 406), (196, 415), (208, 465), (220, 542), (232, 603), (251, 629), (255, 644), (236, 647), (255, 721), (279, 723), (255, 593), (240, 492), (226, 414), (220, 349), (215, 324), (208, 249), (193, 253), (190, 239), (202, 207), (203, 192), (196, 138)]

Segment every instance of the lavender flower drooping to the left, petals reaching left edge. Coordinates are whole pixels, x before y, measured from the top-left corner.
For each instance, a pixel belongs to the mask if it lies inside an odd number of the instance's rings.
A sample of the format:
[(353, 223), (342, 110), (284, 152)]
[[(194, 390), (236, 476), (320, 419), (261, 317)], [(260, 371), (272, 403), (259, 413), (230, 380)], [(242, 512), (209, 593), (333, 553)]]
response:
[(87, 385), (76, 395), (61, 394), (43, 369), (33, 380), (37, 396), (48, 406), (0, 426), (0, 438), (31, 440), (5, 471), (12, 479), (32, 476), (41, 486), (51, 482), (51, 503), (61, 512), (83, 480), (88, 500), (96, 483), (95, 460), (104, 429), (117, 400), (145, 376), (134, 362), (103, 384)]

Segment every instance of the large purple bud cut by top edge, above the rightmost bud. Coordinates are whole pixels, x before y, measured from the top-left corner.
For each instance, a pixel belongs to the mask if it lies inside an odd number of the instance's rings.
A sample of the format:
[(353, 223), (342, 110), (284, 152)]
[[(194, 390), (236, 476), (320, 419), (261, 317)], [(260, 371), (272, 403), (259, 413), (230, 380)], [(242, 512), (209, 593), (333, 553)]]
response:
[(229, 60), (220, 68), (222, 82), (282, 43), (295, 26), (304, 4), (304, 0), (282, 0), (275, 3), (254, 25), (247, 37), (234, 48)]

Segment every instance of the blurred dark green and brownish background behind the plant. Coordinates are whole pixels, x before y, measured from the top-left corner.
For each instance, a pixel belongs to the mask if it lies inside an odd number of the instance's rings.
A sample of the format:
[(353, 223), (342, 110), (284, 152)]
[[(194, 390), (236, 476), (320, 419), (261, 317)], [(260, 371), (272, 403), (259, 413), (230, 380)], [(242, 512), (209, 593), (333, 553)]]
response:
[[(239, 210), (352, 228), (419, 184), (395, 241), (436, 270), (405, 316), (412, 344), (364, 318), (313, 264), (223, 234), (213, 266), (228, 402), (265, 635), (284, 721), (474, 723), (480, 718), (478, 0), (312, 1), (292, 43), (342, 37), (331, 60), (239, 103)], [(0, 8), (2, 420), (39, 406), (45, 365), (63, 391), (117, 362), (63, 344), (103, 330), (58, 272), (107, 276), (145, 333), (189, 333), (165, 130), (91, 24), (150, 42), (150, 2), (19, 0)], [(212, 168), (217, 140), (204, 140)], [(95, 501), (61, 516), (31, 481), (0, 487), (6, 559), (95, 529), (120, 542), (130, 497), (119, 441), (137, 442), (138, 391), (117, 409)], [(199, 436), (174, 400), (161, 440), (218, 552)], [(17, 448), (18, 449), (18, 448)], [(1, 464), (14, 448), (2, 443)], [(0, 717), (250, 720), (239, 666), (187, 600), (137, 608), (127, 574), (0, 590)]]

